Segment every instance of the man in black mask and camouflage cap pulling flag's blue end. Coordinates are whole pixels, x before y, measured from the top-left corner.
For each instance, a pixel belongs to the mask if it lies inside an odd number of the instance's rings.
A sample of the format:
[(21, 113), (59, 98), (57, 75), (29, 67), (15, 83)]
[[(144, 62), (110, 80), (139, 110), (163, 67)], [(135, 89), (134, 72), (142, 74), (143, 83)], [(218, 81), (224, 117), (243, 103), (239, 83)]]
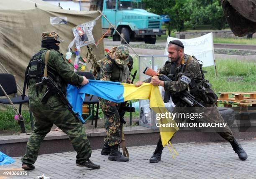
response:
[(48, 77), (55, 85), (66, 94), (67, 83), (72, 85), (85, 85), (89, 81), (71, 70), (69, 63), (64, 60), (59, 52), (59, 43), (63, 42), (55, 32), (42, 33), (41, 49), (31, 58), (28, 66), (28, 96), (29, 106), (35, 116), (34, 130), (27, 143), (26, 154), (21, 159), (22, 168), (25, 170), (34, 169), (41, 141), (50, 132), (53, 124), (64, 131), (77, 151), (77, 166), (99, 169), (100, 165), (90, 161), (91, 147), (85, 134), (84, 126), (67, 109), (56, 95), (49, 97), (47, 103), (41, 99), (46, 93), (46, 86), (36, 87), (35, 84), (42, 80), (44, 75), (45, 55), (47, 50), (49, 60), (47, 63)]

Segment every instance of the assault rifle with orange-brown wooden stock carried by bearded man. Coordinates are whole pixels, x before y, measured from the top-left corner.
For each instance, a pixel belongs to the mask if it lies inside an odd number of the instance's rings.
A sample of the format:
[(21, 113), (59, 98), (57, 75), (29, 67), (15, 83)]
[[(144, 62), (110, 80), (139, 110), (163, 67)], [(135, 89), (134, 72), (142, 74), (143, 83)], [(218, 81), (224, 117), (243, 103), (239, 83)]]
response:
[[(143, 71), (143, 73), (148, 75), (148, 76), (158, 76), (159, 80), (161, 80), (161, 81), (172, 81), (170, 79), (170, 77), (172, 75), (168, 75), (168, 76), (162, 75), (162, 74), (159, 74), (156, 71), (154, 71), (153, 69), (148, 68), (148, 67), (146, 67), (146, 69)], [(171, 91), (165, 91), (165, 93), (164, 93), (164, 103), (169, 102), (170, 97), (171, 97)], [(194, 106), (195, 104), (197, 104), (201, 107), (204, 107), (202, 104), (197, 102), (195, 100), (195, 97), (192, 94), (190, 94), (187, 90), (179, 92), (179, 98), (181, 100), (183, 100), (184, 102), (186, 102), (189, 106)]]

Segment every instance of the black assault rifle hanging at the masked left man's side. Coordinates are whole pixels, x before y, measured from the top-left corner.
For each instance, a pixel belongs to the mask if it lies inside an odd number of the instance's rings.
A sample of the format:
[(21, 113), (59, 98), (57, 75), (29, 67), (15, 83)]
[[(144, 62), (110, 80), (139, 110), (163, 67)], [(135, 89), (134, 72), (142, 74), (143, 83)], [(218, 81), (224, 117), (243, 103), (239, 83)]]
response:
[(62, 103), (64, 103), (65, 105), (67, 105), (68, 110), (73, 114), (73, 116), (77, 119), (80, 120), (82, 122), (82, 124), (85, 123), (84, 119), (82, 118), (82, 116), (80, 116), (78, 113), (74, 113), (74, 111), (72, 110), (72, 106), (69, 103), (69, 101), (67, 100), (67, 97), (65, 96), (65, 94), (53, 83), (53, 81), (51, 81), (50, 78), (48, 77), (43, 77), (42, 81), (39, 83), (36, 83), (36, 87), (41, 86), (41, 85), (46, 85), (46, 93), (44, 94), (41, 102), (42, 103), (47, 103), (48, 99), (52, 96), (52, 95), (56, 95), (58, 96), (58, 98), (62, 101)]

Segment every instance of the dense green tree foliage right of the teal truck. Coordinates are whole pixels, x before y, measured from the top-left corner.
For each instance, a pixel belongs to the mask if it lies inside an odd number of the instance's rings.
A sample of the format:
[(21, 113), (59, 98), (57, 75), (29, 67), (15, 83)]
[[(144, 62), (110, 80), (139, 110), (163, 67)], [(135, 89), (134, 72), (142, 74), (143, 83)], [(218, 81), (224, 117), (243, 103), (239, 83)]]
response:
[[(227, 27), (220, 0), (142, 0), (146, 9), (155, 14), (169, 15), (169, 30), (183, 31), (197, 25), (211, 24), (221, 30)], [(164, 7), (164, 8), (163, 8)]]

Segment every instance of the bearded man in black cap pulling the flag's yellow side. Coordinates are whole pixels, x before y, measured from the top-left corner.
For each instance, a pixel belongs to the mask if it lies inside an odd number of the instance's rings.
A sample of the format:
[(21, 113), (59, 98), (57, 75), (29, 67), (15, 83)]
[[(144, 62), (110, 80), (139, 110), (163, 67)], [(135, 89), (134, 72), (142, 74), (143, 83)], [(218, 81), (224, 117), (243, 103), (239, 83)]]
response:
[[(207, 107), (204, 111), (205, 121), (209, 123), (223, 123), (224, 120), (214, 104), (216, 101), (211, 101), (207, 96), (206, 98), (204, 98), (204, 95), (202, 95), (201, 93), (202, 91), (200, 92), (197, 90), (202, 87), (203, 84), (200, 82), (203, 81), (204, 76), (196, 58), (194, 56), (184, 54), (184, 45), (179, 40), (170, 41), (167, 50), (169, 53), (169, 60), (166, 61), (164, 67), (160, 69), (159, 74), (172, 74), (172, 81), (160, 81), (158, 76), (154, 76), (145, 80), (144, 82), (150, 82), (154, 86), (163, 86), (166, 91), (171, 92), (172, 101), (176, 105), (172, 113), (179, 112), (181, 108), (187, 106), (187, 103), (179, 98), (179, 92), (183, 90), (189, 90), (190, 93), (193, 93), (192, 95), (195, 96), (197, 101), (202, 103), (203, 106)], [(186, 65), (185, 68), (183, 68), (182, 70), (182, 65), (184, 64)], [(142, 81), (138, 81), (135, 86), (141, 86), (142, 83)], [(197, 88), (198, 86), (199, 88)], [(214, 92), (212, 91), (212, 93)], [(189, 110), (191, 110), (191, 108), (189, 108)], [(246, 152), (243, 150), (241, 145), (238, 144), (238, 141), (236, 141), (232, 131), (228, 126), (224, 127), (223, 129), (221, 129), (221, 131), (218, 131), (217, 133), (230, 142), (233, 150), (236, 152), (236, 154), (238, 154), (239, 159), (247, 159)], [(149, 162), (157, 163), (158, 161), (161, 161), (161, 154), (163, 149), (164, 147), (162, 145), (161, 138), (159, 138), (156, 150), (151, 156)]]

